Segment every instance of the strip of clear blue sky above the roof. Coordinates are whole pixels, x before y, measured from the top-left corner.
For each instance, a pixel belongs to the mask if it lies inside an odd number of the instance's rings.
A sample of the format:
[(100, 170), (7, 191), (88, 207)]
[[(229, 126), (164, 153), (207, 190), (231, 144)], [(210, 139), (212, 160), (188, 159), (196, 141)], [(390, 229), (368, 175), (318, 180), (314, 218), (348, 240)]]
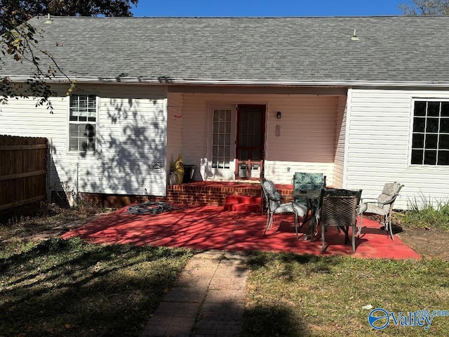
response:
[(400, 15), (409, 0), (140, 0), (134, 16)]

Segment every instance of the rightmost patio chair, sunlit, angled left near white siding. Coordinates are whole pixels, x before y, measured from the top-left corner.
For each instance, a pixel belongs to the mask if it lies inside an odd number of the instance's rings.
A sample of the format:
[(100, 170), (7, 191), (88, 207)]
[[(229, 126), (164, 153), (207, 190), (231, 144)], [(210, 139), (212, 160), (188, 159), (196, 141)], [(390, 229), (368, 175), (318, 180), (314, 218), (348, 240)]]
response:
[(363, 224), (363, 213), (372, 213), (377, 214), (378, 216), (382, 216), (383, 227), (387, 230), (387, 233), (390, 233), (391, 239), (394, 240), (393, 230), (391, 229), (391, 213), (393, 211), (394, 201), (398, 197), (401, 188), (404, 185), (400, 183), (386, 183), (384, 185), (384, 189), (382, 193), (377, 197), (377, 199), (373, 198), (363, 198), (360, 206), (360, 227), (358, 227), (358, 235), (360, 235)]

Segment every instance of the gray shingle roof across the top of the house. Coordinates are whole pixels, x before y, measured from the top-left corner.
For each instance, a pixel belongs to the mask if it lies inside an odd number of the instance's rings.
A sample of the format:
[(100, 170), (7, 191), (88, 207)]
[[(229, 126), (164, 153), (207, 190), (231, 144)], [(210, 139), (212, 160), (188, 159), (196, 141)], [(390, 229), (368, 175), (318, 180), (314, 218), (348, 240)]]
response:
[[(185, 81), (449, 84), (449, 16), (30, 22), (41, 31), (39, 47), (70, 77), (83, 79), (121, 74)], [(354, 29), (358, 41), (351, 40)], [(7, 62), (0, 73), (29, 71)]]

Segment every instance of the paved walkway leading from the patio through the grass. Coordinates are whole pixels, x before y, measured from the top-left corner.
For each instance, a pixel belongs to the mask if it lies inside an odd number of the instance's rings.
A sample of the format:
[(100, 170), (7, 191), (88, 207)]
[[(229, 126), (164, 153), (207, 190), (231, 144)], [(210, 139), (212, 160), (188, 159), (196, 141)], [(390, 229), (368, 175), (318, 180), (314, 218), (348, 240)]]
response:
[(142, 337), (239, 336), (248, 267), (241, 253), (207, 251), (189, 260)]

